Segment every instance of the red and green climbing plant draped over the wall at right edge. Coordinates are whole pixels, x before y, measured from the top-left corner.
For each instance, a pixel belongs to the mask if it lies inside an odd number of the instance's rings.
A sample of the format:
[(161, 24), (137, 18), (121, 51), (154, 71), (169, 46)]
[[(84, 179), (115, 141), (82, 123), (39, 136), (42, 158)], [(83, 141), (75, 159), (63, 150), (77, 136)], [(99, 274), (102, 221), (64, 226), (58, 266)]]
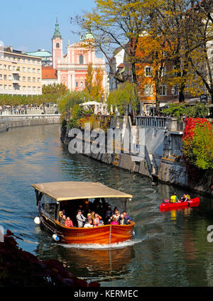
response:
[(194, 168), (213, 168), (212, 125), (203, 118), (185, 119), (182, 151), (186, 162)]

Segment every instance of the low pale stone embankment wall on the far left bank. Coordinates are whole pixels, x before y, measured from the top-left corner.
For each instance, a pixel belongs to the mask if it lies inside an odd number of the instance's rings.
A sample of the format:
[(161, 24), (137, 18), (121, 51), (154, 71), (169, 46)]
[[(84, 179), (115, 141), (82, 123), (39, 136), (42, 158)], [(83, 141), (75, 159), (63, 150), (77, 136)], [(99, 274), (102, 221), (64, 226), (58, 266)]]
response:
[(0, 117), (0, 131), (19, 126), (40, 126), (43, 124), (60, 124), (60, 115), (11, 115)]

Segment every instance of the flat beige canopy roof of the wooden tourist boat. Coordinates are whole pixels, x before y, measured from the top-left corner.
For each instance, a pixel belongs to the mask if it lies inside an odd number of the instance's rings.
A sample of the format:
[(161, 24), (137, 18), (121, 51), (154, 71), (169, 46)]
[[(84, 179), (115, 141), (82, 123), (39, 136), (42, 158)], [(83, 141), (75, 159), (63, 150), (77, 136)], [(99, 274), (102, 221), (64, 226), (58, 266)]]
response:
[(57, 201), (92, 199), (97, 197), (132, 197), (132, 195), (114, 190), (99, 182), (48, 182), (33, 184), (31, 186)]

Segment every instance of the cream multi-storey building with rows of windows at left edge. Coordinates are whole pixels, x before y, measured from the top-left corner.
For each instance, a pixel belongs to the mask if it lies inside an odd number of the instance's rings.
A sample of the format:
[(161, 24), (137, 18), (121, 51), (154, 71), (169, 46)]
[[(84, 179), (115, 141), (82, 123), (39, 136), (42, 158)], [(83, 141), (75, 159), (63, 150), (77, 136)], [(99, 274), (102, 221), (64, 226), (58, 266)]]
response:
[(0, 48), (0, 94), (42, 94), (41, 58)]

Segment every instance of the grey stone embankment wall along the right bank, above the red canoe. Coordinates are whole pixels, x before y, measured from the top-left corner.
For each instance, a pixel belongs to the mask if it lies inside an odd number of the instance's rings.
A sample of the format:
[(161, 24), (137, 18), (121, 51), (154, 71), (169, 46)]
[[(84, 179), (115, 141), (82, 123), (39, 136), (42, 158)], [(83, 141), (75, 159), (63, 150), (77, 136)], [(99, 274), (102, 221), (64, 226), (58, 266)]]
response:
[[(130, 117), (124, 116), (120, 121), (111, 123), (111, 128), (119, 128), (123, 138), (127, 130), (131, 135), (133, 133), (133, 151), (124, 153), (121, 141), (120, 152), (84, 153), (84, 155), (129, 170), (131, 173), (152, 177), (159, 182), (213, 195), (211, 188), (213, 173), (209, 171), (199, 173), (197, 176), (195, 171), (190, 173), (187, 169), (182, 158), (183, 124), (177, 119), (137, 117), (136, 126), (133, 126)], [(71, 140), (68, 132), (65, 131), (62, 131), (61, 139), (67, 146)], [(91, 144), (92, 140), (84, 141), (85, 145), (87, 143)], [(137, 153), (138, 148), (142, 148), (143, 151)]]

